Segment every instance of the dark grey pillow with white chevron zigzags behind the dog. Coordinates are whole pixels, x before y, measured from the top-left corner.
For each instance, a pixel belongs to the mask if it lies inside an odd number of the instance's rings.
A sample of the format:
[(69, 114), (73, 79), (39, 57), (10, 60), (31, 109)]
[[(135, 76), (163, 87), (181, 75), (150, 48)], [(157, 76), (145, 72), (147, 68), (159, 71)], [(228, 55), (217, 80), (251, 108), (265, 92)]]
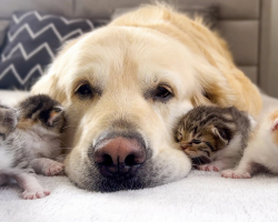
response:
[(87, 19), (14, 12), (1, 54), (0, 89), (30, 89), (63, 42), (92, 29)]

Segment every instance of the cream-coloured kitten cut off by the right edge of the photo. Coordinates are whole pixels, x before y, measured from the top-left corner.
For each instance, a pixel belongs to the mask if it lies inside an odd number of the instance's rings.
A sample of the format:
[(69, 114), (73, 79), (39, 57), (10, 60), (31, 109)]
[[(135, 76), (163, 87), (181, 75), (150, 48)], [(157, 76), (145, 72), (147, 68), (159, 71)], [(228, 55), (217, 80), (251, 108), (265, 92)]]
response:
[(222, 172), (225, 178), (249, 179), (260, 167), (278, 173), (278, 110), (271, 110), (261, 118), (245, 149), (244, 157), (235, 169)]

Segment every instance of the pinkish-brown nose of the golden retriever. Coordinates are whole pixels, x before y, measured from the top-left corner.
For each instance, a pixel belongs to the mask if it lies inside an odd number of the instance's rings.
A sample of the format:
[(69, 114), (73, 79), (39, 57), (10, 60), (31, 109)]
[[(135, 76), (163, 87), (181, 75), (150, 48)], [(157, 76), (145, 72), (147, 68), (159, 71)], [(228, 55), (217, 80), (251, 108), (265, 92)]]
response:
[(146, 160), (146, 148), (135, 138), (118, 137), (102, 142), (93, 155), (107, 178), (132, 178)]

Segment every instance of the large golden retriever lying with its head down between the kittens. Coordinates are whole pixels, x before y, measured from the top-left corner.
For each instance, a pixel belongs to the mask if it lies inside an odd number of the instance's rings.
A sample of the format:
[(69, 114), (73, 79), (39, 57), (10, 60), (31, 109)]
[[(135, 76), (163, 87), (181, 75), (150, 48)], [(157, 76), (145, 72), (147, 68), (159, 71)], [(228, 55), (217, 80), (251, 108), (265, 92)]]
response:
[(68, 113), (66, 172), (79, 188), (118, 191), (185, 178), (189, 159), (173, 140), (198, 104), (257, 115), (257, 88), (200, 20), (147, 6), (67, 43), (32, 93)]

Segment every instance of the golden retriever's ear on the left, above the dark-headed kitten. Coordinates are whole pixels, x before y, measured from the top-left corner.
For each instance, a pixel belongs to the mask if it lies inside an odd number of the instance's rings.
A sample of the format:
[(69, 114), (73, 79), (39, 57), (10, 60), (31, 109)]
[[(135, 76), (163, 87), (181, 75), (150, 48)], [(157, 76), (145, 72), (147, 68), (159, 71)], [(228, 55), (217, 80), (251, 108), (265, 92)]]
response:
[(61, 75), (58, 73), (60, 69), (60, 60), (63, 54), (68, 51), (79, 39), (68, 41), (58, 53), (54, 62), (49, 67), (47, 73), (32, 87), (32, 94), (48, 94), (52, 99), (57, 100), (61, 104), (64, 103), (67, 97), (64, 92), (64, 81), (61, 80)]

